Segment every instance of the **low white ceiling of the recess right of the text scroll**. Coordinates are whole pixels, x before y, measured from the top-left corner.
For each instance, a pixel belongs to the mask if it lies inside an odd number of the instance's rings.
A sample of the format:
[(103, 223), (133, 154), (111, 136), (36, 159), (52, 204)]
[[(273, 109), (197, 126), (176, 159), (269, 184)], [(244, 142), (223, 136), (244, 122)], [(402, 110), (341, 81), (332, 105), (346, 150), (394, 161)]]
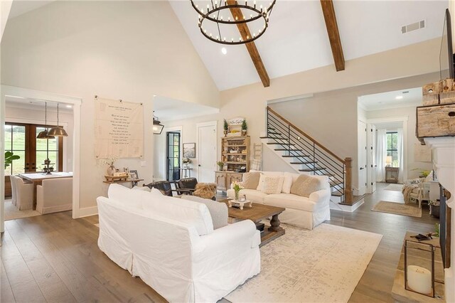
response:
[(185, 102), (168, 97), (154, 96), (154, 115), (158, 117), (161, 122), (213, 115), (218, 112), (220, 112), (220, 109), (215, 107)]

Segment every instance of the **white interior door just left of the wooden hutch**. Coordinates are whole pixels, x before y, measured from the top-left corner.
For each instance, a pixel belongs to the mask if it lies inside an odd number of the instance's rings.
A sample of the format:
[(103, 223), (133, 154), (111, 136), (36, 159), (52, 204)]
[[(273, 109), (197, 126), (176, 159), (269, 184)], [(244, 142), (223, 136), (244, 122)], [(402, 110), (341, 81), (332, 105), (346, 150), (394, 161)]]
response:
[(198, 123), (198, 182), (215, 182), (217, 158), (217, 122)]

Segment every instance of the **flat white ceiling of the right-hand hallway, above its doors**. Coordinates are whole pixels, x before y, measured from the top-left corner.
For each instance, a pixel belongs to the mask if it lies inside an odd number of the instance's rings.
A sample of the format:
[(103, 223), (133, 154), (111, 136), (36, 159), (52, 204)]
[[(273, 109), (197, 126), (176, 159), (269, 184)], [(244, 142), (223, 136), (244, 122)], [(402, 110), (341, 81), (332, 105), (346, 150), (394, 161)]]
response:
[[(397, 99), (397, 97), (402, 97), (402, 99)], [(367, 111), (419, 106), (422, 105), (422, 87), (360, 96), (358, 104)]]

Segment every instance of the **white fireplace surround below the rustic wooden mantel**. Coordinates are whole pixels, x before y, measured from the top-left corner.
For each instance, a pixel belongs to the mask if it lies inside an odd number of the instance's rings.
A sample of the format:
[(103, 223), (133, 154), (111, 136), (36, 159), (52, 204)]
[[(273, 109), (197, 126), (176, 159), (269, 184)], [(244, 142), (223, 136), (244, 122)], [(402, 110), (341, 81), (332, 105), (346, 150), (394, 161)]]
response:
[[(451, 243), (455, 243), (454, 206), (455, 206), (455, 137), (425, 138), (425, 143), (432, 148), (433, 168), (439, 183), (451, 193), (446, 201), (451, 211)], [(446, 302), (455, 302), (455, 248), (450, 252), (451, 267), (446, 268)]]

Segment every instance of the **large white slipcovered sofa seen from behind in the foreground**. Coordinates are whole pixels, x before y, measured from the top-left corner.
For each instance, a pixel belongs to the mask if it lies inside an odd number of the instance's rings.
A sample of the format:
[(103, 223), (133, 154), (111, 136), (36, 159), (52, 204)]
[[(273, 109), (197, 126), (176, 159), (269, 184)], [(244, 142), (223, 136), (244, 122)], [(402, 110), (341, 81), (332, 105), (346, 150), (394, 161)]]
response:
[(169, 302), (216, 302), (259, 273), (251, 220), (213, 230), (203, 203), (118, 184), (108, 196), (97, 198), (98, 246)]

